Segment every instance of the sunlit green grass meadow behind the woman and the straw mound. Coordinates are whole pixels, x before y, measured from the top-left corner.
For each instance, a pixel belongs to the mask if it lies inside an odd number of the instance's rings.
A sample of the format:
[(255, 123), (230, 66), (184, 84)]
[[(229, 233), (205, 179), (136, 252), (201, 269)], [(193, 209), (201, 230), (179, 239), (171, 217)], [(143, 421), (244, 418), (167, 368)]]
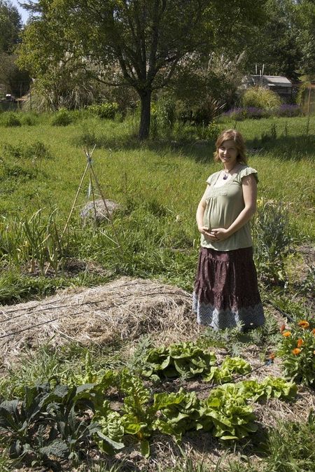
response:
[[(20, 115), (21, 120), (27, 116)], [(183, 133), (176, 134), (176, 127), (169, 141), (139, 143), (134, 116), (123, 123), (91, 118), (84, 112), (76, 113), (74, 118), (73, 123), (61, 127), (51, 125), (50, 115), (35, 116), (36, 125), (1, 127), (0, 300), (8, 300), (12, 281), (15, 288), (20, 287), (15, 293), (25, 296), (25, 276), (19, 280), (17, 274), (32, 260), (40, 265), (43, 276), (32, 280), (29, 296), (36, 291), (36, 284), (38, 293), (45, 291), (47, 264), (57, 272), (55, 282), (47, 280), (49, 291), (54, 286), (100, 280), (86, 273), (71, 280), (62, 275), (62, 258), (69, 257), (97, 261), (106, 267), (109, 277), (158, 277), (190, 290), (200, 238), (195, 210), (207, 177), (220, 169), (212, 159), (214, 143), (200, 142), (197, 137), (181, 140)], [(258, 198), (286, 205), (295, 244), (313, 238), (315, 233), (311, 218), (314, 117), (310, 123), (309, 134), (305, 132), (305, 118), (237, 123), (248, 144), (249, 164), (258, 169)], [(235, 123), (225, 118), (216, 126), (220, 131)], [(71, 218), (66, 244), (59, 239), (85, 169), (83, 149), (92, 144), (97, 145), (92, 165), (102, 192), (120, 204), (114, 215), (120, 247), (111, 242), (116, 238), (110, 224), (102, 223), (95, 229), (83, 227), (80, 221), (80, 209), (87, 202), (88, 179)], [(52, 218), (56, 211), (57, 219)], [(41, 223), (32, 220), (36, 212), (41, 214)]]

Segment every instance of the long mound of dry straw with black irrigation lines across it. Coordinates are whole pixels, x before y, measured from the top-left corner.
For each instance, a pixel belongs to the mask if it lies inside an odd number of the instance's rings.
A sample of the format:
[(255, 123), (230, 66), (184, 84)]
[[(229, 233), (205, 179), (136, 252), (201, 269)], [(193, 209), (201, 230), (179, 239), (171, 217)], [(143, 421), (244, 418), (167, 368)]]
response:
[(134, 340), (144, 333), (161, 342), (193, 338), (195, 317), (190, 293), (151, 280), (123, 277), (76, 293), (60, 293), (41, 301), (0, 310), (2, 364), (25, 347), (76, 341), (111, 343)]

